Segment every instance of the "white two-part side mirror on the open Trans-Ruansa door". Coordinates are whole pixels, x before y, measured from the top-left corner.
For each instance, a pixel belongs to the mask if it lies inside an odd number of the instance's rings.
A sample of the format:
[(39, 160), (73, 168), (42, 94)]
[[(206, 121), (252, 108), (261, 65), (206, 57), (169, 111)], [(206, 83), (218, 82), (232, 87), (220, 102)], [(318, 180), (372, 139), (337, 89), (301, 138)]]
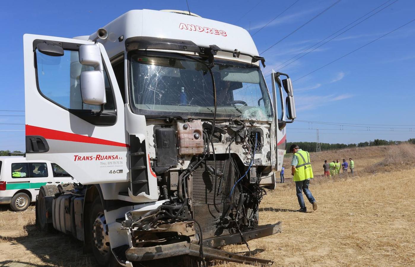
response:
[(95, 71), (81, 72), (82, 102), (89, 105), (107, 103), (105, 96), (104, 64), (98, 44), (83, 44), (79, 47), (79, 62), (94, 67)]

